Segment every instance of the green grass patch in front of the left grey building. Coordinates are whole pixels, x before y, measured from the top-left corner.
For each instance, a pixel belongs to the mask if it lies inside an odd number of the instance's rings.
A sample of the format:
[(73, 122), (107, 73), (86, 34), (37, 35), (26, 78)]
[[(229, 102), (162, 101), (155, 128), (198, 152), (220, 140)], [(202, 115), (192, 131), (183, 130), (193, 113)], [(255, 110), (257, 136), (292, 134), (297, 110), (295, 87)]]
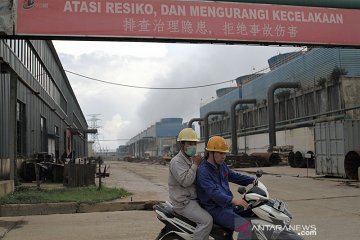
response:
[(0, 198), (0, 204), (26, 204), (26, 203), (98, 203), (129, 196), (131, 193), (123, 188), (96, 186), (63, 189), (38, 189), (36, 187), (16, 187), (15, 191)]

